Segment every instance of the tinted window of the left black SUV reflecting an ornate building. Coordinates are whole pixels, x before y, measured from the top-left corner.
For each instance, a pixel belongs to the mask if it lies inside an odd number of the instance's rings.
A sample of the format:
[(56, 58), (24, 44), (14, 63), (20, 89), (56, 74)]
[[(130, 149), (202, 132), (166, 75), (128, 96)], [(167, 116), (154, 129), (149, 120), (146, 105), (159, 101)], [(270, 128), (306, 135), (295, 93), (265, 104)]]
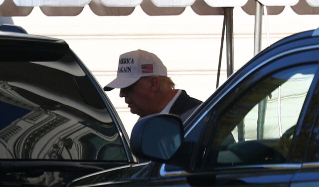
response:
[(53, 61), (12, 59), (0, 59), (0, 159), (127, 160), (101, 96), (70, 52)]

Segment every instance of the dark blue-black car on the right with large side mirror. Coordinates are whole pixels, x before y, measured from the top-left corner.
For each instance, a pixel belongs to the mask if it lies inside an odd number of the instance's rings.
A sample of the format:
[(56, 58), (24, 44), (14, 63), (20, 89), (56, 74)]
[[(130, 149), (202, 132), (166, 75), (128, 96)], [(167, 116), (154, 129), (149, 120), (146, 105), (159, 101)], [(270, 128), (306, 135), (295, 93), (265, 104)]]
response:
[(319, 185), (319, 29), (255, 56), (183, 125), (154, 115), (131, 148), (152, 162), (93, 173), (68, 187)]

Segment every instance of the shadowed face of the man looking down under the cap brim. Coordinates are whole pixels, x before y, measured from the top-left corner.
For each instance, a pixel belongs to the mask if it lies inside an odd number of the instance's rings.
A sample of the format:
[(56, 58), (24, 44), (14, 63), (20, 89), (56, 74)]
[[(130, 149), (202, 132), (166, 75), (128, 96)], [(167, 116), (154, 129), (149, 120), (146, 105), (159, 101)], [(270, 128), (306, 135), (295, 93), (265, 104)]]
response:
[(150, 87), (150, 78), (142, 77), (131, 86), (121, 89), (120, 97), (125, 98), (131, 113), (141, 117), (152, 114)]

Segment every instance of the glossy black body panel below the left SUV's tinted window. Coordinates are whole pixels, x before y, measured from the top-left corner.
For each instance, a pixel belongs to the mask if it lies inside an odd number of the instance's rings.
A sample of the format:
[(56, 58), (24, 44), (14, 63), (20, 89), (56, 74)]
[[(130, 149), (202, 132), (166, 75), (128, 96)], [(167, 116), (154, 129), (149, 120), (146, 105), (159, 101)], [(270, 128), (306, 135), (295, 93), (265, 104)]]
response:
[(124, 165), (67, 161), (0, 161), (0, 186), (61, 187), (83, 175)]

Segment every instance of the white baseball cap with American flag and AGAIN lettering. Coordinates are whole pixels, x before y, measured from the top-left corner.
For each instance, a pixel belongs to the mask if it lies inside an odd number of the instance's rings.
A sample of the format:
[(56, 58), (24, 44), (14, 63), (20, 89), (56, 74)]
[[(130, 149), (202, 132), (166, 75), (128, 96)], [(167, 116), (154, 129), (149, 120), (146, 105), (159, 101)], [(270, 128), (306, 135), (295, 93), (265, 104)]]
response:
[(167, 69), (159, 57), (140, 49), (127, 52), (120, 55), (118, 74), (112, 82), (104, 87), (104, 90), (126, 88), (141, 77), (152, 75), (167, 77)]

